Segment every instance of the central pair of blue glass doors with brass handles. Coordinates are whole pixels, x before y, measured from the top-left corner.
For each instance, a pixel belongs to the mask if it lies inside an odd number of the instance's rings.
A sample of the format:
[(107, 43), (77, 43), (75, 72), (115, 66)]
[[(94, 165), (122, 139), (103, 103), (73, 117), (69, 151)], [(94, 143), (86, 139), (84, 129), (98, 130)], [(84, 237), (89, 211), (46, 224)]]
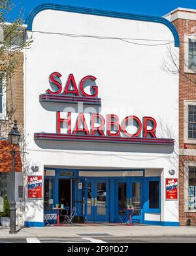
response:
[(109, 221), (108, 180), (94, 179), (87, 181), (87, 221)]

